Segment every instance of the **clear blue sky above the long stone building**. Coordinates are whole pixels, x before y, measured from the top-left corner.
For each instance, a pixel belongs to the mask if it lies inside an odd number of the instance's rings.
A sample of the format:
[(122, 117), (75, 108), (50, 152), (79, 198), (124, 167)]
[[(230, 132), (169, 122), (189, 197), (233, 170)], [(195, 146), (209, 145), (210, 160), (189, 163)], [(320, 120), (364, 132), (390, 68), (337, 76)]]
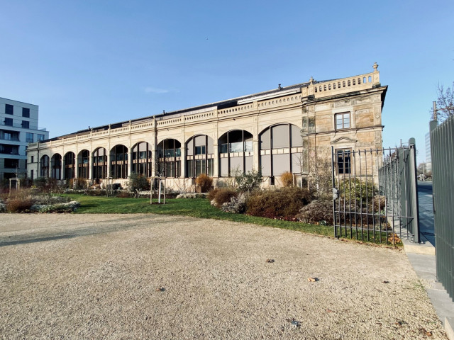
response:
[(384, 146), (425, 155), (454, 81), (454, 1), (4, 1), (0, 96), (50, 137), (308, 81), (388, 85)]

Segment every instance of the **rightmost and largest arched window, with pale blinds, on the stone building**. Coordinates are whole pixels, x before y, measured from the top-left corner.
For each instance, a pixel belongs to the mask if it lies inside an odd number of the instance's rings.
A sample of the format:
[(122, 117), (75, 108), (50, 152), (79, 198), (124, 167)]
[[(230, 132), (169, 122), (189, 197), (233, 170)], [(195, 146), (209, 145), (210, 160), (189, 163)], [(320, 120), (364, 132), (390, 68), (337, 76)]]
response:
[(301, 172), (300, 128), (292, 124), (278, 124), (266, 128), (259, 135), (260, 168), (264, 176), (280, 176), (289, 171)]

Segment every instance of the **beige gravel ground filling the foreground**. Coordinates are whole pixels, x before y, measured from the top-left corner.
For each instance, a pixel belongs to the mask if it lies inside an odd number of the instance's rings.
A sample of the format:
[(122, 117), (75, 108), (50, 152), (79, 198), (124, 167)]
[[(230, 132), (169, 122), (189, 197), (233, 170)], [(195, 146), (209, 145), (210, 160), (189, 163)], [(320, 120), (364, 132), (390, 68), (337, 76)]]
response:
[(0, 258), (2, 339), (446, 339), (403, 251), (289, 230), (1, 214)]

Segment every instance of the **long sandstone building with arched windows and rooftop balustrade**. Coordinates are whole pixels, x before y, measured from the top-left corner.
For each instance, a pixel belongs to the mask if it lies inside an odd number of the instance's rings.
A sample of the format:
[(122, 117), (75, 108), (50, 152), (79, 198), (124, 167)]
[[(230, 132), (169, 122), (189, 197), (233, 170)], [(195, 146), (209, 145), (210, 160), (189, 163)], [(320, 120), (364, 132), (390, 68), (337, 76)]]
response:
[(238, 171), (261, 171), (264, 185), (297, 181), (330, 159), (352, 171), (349, 152), (382, 147), (387, 86), (374, 71), (270, 91), (81, 130), (28, 145), (28, 176), (125, 184), (129, 174), (165, 176), (175, 189), (209, 174), (221, 185)]

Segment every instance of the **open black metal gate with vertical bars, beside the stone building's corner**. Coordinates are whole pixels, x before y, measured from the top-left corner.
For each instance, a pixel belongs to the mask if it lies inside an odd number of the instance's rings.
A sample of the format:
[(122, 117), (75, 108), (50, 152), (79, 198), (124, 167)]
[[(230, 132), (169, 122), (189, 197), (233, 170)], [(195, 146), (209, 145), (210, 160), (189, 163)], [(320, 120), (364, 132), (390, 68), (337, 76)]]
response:
[(334, 149), (333, 220), (336, 237), (396, 244), (419, 242), (416, 149)]

